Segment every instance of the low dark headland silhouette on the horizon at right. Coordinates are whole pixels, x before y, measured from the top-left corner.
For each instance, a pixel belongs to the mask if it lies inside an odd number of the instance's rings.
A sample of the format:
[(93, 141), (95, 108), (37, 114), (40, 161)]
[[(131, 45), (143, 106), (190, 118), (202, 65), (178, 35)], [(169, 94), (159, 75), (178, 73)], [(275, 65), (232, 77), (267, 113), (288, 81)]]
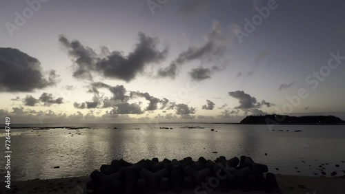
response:
[(287, 116), (270, 114), (265, 116), (246, 116), (240, 124), (264, 125), (345, 125), (345, 121), (336, 116)]

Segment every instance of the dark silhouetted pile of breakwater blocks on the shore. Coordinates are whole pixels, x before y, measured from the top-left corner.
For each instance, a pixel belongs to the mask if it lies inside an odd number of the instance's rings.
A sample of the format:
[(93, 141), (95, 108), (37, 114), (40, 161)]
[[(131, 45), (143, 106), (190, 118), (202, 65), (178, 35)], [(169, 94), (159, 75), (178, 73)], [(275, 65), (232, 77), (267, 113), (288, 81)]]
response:
[(229, 160), (219, 156), (215, 162), (204, 157), (197, 161), (186, 157), (183, 160), (164, 158), (161, 162), (158, 158), (143, 159), (131, 164), (121, 159), (101, 165), (100, 171), (93, 171), (90, 174), (92, 181), (87, 186), (95, 190), (94, 193), (159, 193), (170, 190), (181, 193), (183, 189), (193, 190), (222, 176), (224, 178), (217, 180), (217, 191), (228, 192), (228, 189), (237, 188), (242, 191), (277, 191), (275, 175), (267, 172), (268, 166), (255, 163), (245, 155), (241, 159), (234, 157)]

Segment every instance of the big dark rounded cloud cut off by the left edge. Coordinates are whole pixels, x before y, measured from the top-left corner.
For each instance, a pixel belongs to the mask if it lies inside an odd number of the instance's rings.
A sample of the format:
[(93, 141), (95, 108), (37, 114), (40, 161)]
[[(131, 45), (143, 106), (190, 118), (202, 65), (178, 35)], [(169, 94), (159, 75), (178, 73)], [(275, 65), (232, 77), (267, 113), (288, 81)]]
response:
[(0, 47), (0, 92), (22, 92), (44, 89), (57, 83), (55, 70), (43, 76), (37, 58), (10, 47)]

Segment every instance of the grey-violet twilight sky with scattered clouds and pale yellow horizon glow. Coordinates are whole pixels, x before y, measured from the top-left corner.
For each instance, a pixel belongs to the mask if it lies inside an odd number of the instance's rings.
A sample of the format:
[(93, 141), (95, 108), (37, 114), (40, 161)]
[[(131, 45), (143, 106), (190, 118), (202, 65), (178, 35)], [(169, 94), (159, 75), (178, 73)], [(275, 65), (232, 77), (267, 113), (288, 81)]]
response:
[(344, 1), (1, 1), (14, 123), (345, 120)]

